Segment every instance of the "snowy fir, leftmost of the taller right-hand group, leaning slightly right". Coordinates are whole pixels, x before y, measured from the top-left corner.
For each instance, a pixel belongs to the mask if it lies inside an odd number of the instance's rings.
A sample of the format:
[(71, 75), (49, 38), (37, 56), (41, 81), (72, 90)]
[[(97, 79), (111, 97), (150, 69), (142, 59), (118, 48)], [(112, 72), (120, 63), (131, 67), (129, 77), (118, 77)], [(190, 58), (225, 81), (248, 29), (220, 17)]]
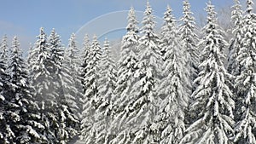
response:
[(130, 9), (128, 17), (128, 25), (126, 26), (126, 34), (122, 39), (121, 47), (121, 58), (119, 60), (118, 72), (117, 72), (117, 82), (113, 98), (113, 110), (112, 118), (113, 122), (111, 124), (110, 130), (112, 135), (119, 133), (118, 123), (122, 116), (120, 114), (124, 111), (125, 106), (130, 100), (127, 96), (131, 92), (131, 86), (135, 83), (134, 72), (137, 69), (135, 64), (137, 63), (137, 46), (138, 46), (138, 28), (136, 14), (133, 8)]

